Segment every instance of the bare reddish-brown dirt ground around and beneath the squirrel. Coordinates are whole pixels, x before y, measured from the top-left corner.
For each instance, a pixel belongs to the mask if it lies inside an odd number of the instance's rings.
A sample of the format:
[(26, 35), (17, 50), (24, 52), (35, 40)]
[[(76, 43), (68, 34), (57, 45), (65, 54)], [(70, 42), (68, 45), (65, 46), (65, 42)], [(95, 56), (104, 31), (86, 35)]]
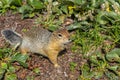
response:
[[(35, 26), (34, 19), (21, 19), (20, 14), (6, 13), (4, 16), (0, 16), (0, 31), (5, 28), (16, 29), (17, 32), (21, 33), (23, 29), (30, 29)], [(6, 46), (5, 40), (0, 34), (0, 48)], [(74, 71), (70, 70), (70, 62), (76, 62), (77, 65), (82, 64), (80, 54), (75, 54), (70, 50), (70, 45), (66, 51), (62, 52), (62, 55), (58, 57), (58, 63), (60, 64), (59, 69), (55, 69), (53, 64), (47, 59), (40, 55), (31, 54), (27, 61), (29, 67), (23, 68), (16, 71), (18, 80), (26, 80), (27, 76), (34, 76), (34, 80), (77, 80), (80, 71), (79, 66), (75, 67)], [(33, 69), (39, 68), (40, 73), (36, 74)]]

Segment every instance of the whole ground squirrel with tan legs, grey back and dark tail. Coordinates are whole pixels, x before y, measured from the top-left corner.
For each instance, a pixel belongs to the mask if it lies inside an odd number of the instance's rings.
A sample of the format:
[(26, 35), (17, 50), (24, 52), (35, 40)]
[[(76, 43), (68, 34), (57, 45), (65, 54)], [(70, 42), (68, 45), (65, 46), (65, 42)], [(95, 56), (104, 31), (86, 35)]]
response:
[(22, 35), (12, 29), (4, 29), (1, 33), (5, 40), (14, 46), (14, 49), (19, 48), (23, 54), (32, 52), (46, 56), (54, 64), (54, 67), (59, 67), (57, 63), (59, 52), (71, 42), (67, 29), (50, 32), (38, 27), (26, 31)]

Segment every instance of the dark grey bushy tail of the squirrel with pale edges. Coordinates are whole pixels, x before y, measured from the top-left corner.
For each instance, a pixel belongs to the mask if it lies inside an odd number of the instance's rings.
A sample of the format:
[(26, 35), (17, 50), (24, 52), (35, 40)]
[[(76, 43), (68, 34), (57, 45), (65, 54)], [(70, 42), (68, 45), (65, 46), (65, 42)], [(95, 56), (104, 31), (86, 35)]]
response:
[(11, 45), (15, 46), (15, 48), (22, 42), (22, 37), (11, 29), (2, 30), (1, 33)]

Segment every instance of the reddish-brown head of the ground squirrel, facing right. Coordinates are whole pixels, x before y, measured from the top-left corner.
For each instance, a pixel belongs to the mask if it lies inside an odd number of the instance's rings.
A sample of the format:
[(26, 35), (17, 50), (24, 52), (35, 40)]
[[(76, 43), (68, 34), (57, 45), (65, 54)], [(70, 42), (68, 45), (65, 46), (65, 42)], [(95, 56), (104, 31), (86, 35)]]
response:
[(58, 41), (60, 44), (67, 44), (71, 42), (70, 34), (67, 29), (59, 29), (55, 32), (53, 32), (53, 35), (56, 38), (56, 41)]

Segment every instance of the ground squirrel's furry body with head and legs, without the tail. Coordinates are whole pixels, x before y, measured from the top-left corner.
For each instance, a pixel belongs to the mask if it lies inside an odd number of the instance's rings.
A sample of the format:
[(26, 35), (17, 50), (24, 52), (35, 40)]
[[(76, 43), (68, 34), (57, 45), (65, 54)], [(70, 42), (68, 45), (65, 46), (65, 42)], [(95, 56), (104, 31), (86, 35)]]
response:
[[(41, 39), (45, 39), (44, 37), (46, 37), (45, 34), (50, 36), (42, 41)], [(48, 57), (54, 66), (58, 67), (57, 56), (61, 50), (64, 50), (65, 44), (70, 41), (70, 35), (66, 29), (60, 29), (51, 33), (45, 29), (37, 28), (25, 32), (23, 40), (24, 41), (20, 46), (21, 53), (26, 54), (27, 52), (37, 52)]]

